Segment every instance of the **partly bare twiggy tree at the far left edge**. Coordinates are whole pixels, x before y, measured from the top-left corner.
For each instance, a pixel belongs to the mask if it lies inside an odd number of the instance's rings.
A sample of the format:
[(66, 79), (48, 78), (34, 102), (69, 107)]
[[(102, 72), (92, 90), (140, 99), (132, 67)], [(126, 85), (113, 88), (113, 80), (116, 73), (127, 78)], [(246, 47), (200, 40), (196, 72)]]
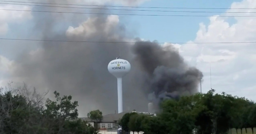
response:
[[(12, 82), (11, 82), (12, 83)], [(0, 133), (45, 133), (42, 122), (42, 100), (34, 92), (23, 88), (0, 88)], [(39, 132), (40, 131), (40, 132)]]

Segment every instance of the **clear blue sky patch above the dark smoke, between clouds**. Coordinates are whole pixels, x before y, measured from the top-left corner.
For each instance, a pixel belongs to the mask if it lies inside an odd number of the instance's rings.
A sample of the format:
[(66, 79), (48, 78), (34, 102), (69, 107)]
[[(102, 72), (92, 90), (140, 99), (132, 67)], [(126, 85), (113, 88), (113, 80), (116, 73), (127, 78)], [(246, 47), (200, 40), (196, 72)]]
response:
[[(236, 0), (238, 1), (238, 0)], [(229, 8), (234, 0), (152, 0), (140, 5), (142, 7), (195, 7), (195, 8)], [(184, 9), (155, 9), (184, 11)], [(202, 9), (185, 9), (185, 11), (205, 11)], [(225, 12), (226, 9), (208, 9), (207, 11)], [(138, 14), (143, 12), (138, 12)], [(150, 12), (145, 12), (149, 13)], [(160, 12), (161, 13), (161, 12)], [(177, 14), (177, 13), (169, 13)], [(195, 15), (195, 13), (182, 13)], [(218, 15), (217, 13), (197, 13), (196, 15)], [(125, 16), (126, 17), (126, 16)], [(120, 17), (122, 19), (122, 16)], [(138, 26), (138, 36), (159, 42), (187, 42), (194, 40), (199, 29), (199, 23), (209, 23), (209, 17), (165, 17), (165, 16), (133, 16), (131, 21)], [(133, 29), (134, 25), (129, 25)], [(128, 27), (128, 28), (129, 28)]]

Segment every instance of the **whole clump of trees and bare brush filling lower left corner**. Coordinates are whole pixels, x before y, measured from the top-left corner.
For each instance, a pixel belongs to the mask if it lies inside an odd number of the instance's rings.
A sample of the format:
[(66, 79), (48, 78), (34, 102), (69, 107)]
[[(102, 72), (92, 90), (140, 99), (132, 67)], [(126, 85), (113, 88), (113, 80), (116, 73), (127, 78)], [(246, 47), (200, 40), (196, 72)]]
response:
[(0, 134), (96, 134), (88, 123), (77, 120), (77, 101), (71, 96), (56, 101), (45, 94), (21, 89), (0, 88)]

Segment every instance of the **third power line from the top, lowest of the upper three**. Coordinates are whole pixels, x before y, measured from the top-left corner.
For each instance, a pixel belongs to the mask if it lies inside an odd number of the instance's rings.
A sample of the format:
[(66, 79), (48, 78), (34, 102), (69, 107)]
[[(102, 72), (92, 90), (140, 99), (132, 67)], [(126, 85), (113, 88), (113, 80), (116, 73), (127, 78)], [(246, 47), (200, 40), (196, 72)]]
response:
[[(44, 12), (44, 13), (74, 13), (74, 14), (97, 14), (97, 15), (131, 15), (131, 16), (169, 16), (169, 17), (212, 17), (212, 15), (150, 15), (150, 14), (119, 14), (119, 13), (80, 13), (80, 12), (57, 12), (57, 11), (34, 11), (34, 10), (16, 10), (16, 9), (0, 9), (6, 11), (27, 11), (27, 12)], [(232, 16), (232, 15), (219, 15), (218, 17), (256, 17), (249, 16)]]

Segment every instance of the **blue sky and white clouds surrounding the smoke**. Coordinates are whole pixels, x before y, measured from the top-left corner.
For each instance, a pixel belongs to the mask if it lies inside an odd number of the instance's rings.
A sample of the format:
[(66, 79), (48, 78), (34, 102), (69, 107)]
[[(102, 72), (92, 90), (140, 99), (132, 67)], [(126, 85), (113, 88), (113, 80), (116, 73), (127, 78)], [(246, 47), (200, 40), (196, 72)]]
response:
[[(17, 0), (18, 1), (18, 0)], [(19, 0), (21, 1), (21, 0)], [(26, 0), (29, 1), (29, 0)], [(42, 2), (37, 0), (38, 2)], [(34, 0), (33, 0), (34, 2)], [(76, 0), (74, 4), (90, 3)], [(143, 11), (111, 11), (109, 13), (125, 14), (163, 14), (163, 15), (207, 15), (209, 17), (187, 16), (128, 16), (118, 15), (117, 23), (125, 26), (131, 38), (166, 42), (163, 46), (174, 45), (187, 64), (195, 66), (203, 72), (202, 92), (210, 88), (217, 93), (226, 92), (234, 96), (255, 100), (256, 95), (256, 44), (197, 44), (196, 42), (255, 42), (256, 17), (219, 17), (221, 15), (256, 16), (255, 0), (97, 0), (94, 4), (140, 6), (140, 7), (189, 7), (189, 8), (255, 8), (255, 9), (148, 9), (172, 11), (216, 11), (222, 13), (177, 13), (177, 12), (143, 12)], [(0, 3), (0, 9), (33, 10), (33, 6), (11, 5)], [(43, 7), (40, 7), (43, 8)], [(35, 9), (38, 10), (38, 9)], [(44, 10), (51, 10), (45, 7)], [(63, 11), (63, 10), (62, 10)], [(247, 12), (247, 13), (226, 13)], [(38, 39), (42, 36), (32, 21), (38, 16), (47, 19), (49, 13), (0, 10), (0, 38)], [(56, 17), (59, 17), (55, 14)], [(67, 14), (65, 14), (67, 15)], [(88, 20), (88, 16), (78, 16), (74, 21), (61, 21), (55, 27), (55, 32), (66, 32), (69, 27), (79, 27)], [(69, 29), (70, 30), (70, 29)], [(36, 31), (36, 32), (35, 32)], [(191, 44), (188, 42), (195, 42)], [(0, 39), (0, 86), (6, 86), (13, 81), (15, 86), (21, 84), (22, 76), (13, 76), (16, 60), (20, 54), (33, 54), (40, 49), (36, 41), (19, 41)], [(107, 68), (106, 68), (107, 69)], [(211, 75), (210, 75), (211, 74)], [(26, 81), (25, 81), (26, 82)], [(29, 83), (29, 82), (27, 82)], [(31, 86), (37, 86), (31, 84)], [(199, 89), (200, 91), (200, 86)]]

